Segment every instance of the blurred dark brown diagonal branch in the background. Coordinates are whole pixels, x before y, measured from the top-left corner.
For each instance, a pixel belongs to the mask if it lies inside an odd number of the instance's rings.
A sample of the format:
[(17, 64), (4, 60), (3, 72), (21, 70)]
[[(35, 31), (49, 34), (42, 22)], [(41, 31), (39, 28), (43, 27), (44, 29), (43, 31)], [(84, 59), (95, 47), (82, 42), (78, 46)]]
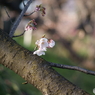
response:
[(59, 42), (62, 43), (62, 46), (65, 47), (69, 53), (70, 53), (70, 57), (77, 61), (77, 63), (81, 63), (85, 58), (81, 57), (80, 55), (77, 54), (77, 52), (72, 48), (72, 42), (66, 40), (65, 38), (61, 37), (59, 34), (58, 34), (58, 31), (55, 30), (55, 29), (50, 29), (49, 27), (47, 27), (46, 25), (44, 25), (45, 27), (45, 30), (44, 31), (47, 31), (48, 33), (50, 33), (50, 35), (57, 35), (57, 37), (59, 37)]

